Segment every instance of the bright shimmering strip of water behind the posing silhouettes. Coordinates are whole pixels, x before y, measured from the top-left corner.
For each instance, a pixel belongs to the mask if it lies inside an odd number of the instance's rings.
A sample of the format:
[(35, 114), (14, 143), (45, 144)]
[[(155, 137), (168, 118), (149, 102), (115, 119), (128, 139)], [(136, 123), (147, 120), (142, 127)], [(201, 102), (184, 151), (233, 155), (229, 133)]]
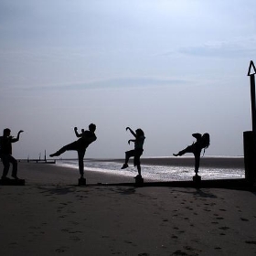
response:
[[(56, 165), (67, 166), (78, 169), (77, 160), (58, 160)], [(121, 169), (121, 163), (114, 161), (85, 160), (85, 170), (107, 173), (119, 176), (136, 176), (137, 170), (133, 165)], [(221, 168), (221, 167), (200, 167), (198, 173), (202, 179), (229, 179), (244, 178), (243, 168)], [(142, 165), (142, 176), (147, 180), (154, 181), (181, 181), (191, 180), (195, 175), (193, 166), (177, 165)]]

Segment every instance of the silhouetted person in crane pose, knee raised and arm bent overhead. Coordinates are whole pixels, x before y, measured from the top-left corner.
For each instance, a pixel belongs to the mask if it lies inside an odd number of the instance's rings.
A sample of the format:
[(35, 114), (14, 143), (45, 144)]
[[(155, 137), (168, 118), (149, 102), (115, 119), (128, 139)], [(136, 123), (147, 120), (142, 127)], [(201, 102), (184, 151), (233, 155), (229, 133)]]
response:
[(144, 131), (142, 129), (137, 129), (134, 133), (133, 130), (130, 127), (126, 127), (126, 131), (127, 130), (129, 130), (133, 134), (133, 136), (135, 137), (134, 140), (129, 140), (128, 141), (128, 144), (130, 144), (131, 142), (134, 143), (134, 149), (125, 152), (125, 162), (124, 162), (123, 167), (121, 169), (125, 169), (129, 166), (128, 165), (129, 159), (130, 159), (130, 157), (133, 156), (134, 157), (133, 158), (133, 165), (137, 166), (137, 170), (138, 170), (138, 176), (136, 176), (136, 177), (142, 177), (140, 157), (144, 153), (144, 139), (145, 139)]

